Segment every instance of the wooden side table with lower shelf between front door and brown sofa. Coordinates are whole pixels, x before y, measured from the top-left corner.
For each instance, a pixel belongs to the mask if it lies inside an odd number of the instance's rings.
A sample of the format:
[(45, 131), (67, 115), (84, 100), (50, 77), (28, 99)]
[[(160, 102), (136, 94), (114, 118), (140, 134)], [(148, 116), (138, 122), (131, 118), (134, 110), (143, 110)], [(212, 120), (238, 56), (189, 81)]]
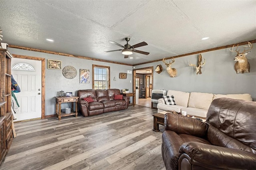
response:
[[(61, 117), (66, 117), (66, 116), (71, 116), (75, 115), (76, 117), (78, 116), (77, 112), (77, 102), (78, 98), (77, 96), (70, 96), (70, 97), (55, 97), (56, 98), (56, 116), (61, 119)], [(76, 102), (76, 111), (74, 111), (74, 106), (73, 102)], [(61, 113), (61, 104), (62, 103), (72, 103), (71, 105), (71, 113), (66, 114), (64, 112)]]

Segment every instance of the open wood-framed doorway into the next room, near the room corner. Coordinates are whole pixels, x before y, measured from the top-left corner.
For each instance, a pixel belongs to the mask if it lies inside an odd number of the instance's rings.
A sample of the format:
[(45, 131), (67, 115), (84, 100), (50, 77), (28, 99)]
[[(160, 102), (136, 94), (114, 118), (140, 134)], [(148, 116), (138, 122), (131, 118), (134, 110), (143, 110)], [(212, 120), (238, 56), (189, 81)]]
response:
[(133, 70), (133, 92), (136, 93), (136, 105), (151, 108), (153, 89), (153, 66)]

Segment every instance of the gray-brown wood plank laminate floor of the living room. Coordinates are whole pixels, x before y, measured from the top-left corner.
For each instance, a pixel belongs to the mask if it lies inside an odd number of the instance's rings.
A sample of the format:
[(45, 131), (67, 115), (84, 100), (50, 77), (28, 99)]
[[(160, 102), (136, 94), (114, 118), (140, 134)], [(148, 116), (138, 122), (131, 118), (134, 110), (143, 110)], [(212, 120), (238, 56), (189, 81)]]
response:
[(165, 170), (163, 126), (156, 109), (129, 106), (90, 117), (56, 117), (15, 123), (0, 170)]

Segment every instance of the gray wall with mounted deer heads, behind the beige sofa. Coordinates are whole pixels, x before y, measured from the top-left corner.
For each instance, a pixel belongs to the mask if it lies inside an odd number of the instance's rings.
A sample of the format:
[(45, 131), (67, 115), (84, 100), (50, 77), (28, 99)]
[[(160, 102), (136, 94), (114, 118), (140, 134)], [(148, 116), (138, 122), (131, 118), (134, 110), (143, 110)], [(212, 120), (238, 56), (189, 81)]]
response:
[[(249, 93), (256, 101), (256, 43), (247, 55), (250, 63), (250, 73), (236, 74), (234, 70), (236, 53), (228, 49), (221, 49), (202, 53), (206, 64), (202, 68), (202, 74), (196, 75), (196, 70), (188, 66), (197, 64), (198, 55), (189, 55), (175, 59), (172, 68), (177, 69), (177, 77), (171, 78), (166, 72), (166, 66), (162, 61), (156, 63), (135, 66), (136, 69), (161, 64), (163, 71), (158, 74), (154, 71), (154, 89), (180, 90), (184, 92), (207, 92), (213, 94), (242, 94)], [(243, 50), (243, 47), (240, 51)], [(169, 61), (169, 60), (168, 60)], [(167, 61), (167, 62), (168, 62)]]

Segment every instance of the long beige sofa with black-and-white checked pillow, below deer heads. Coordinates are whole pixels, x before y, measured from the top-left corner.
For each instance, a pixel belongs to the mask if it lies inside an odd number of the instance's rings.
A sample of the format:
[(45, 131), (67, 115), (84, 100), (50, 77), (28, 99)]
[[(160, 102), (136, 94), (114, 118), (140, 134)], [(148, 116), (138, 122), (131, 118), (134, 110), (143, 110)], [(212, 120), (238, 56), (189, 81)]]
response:
[(206, 113), (212, 100), (216, 98), (232, 98), (252, 101), (250, 94), (211, 94), (200, 92), (181, 92), (176, 90), (168, 90), (166, 96), (174, 96), (176, 105), (167, 105), (163, 98), (158, 99), (158, 113), (161, 111), (186, 111), (187, 114), (199, 117), (206, 117)]

